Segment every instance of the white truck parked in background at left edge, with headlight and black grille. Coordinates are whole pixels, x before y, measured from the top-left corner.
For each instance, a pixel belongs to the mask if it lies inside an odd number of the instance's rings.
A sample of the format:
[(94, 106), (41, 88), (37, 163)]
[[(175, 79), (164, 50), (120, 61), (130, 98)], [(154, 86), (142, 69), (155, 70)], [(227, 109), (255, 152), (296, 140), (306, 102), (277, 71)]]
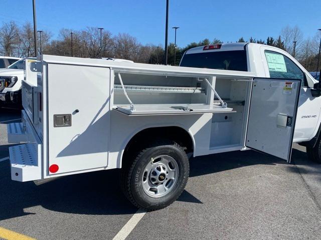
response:
[(0, 107), (21, 107), (21, 86), (25, 78), (25, 61), (35, 57), (22, 58), (7, 68), (0, 69)]

